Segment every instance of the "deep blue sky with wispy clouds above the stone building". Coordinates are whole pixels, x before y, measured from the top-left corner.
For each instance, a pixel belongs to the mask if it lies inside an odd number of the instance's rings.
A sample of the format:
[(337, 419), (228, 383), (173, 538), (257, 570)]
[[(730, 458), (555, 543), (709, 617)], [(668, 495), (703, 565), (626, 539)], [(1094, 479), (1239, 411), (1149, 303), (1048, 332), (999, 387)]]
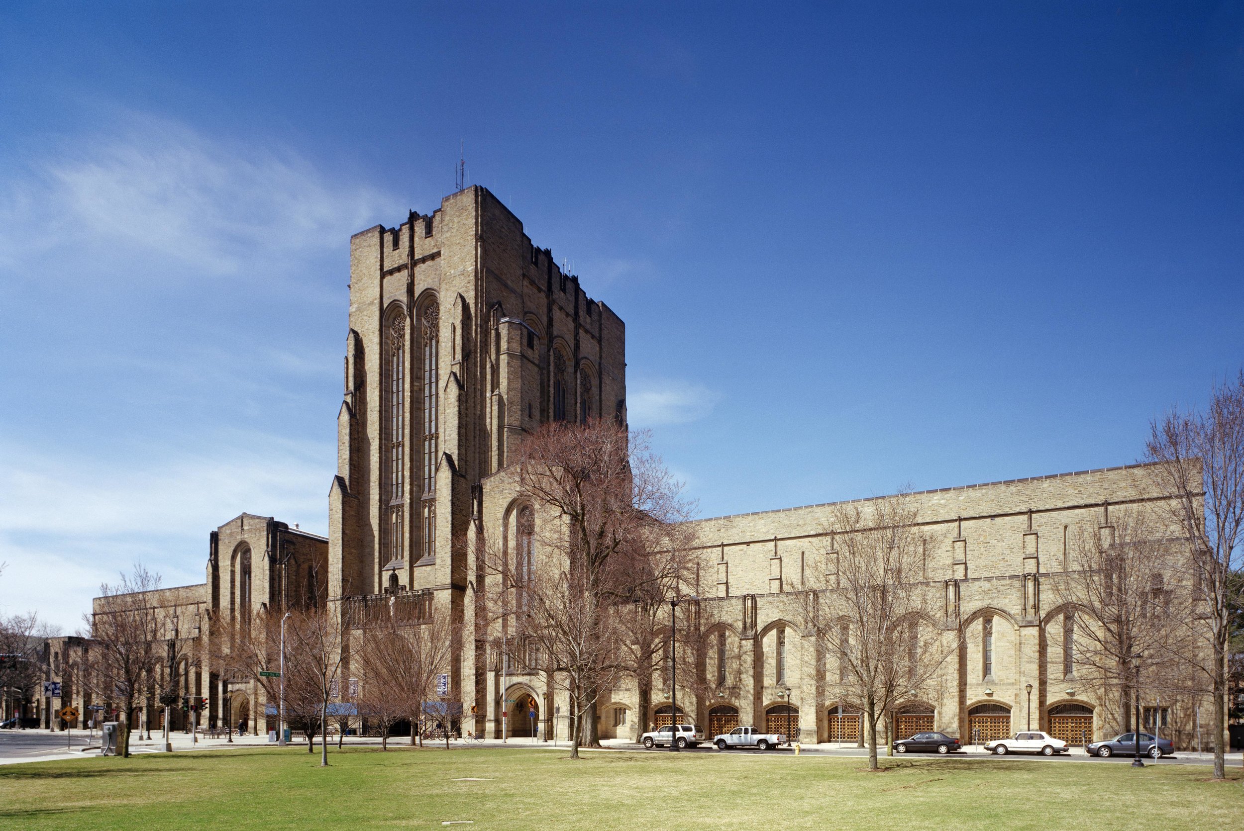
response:
[(326, 531), (347, 240), (468, 178), (702, 515), (1135, 462), (1244, 361), (1239, 4), (0, 9), (0, 613)]

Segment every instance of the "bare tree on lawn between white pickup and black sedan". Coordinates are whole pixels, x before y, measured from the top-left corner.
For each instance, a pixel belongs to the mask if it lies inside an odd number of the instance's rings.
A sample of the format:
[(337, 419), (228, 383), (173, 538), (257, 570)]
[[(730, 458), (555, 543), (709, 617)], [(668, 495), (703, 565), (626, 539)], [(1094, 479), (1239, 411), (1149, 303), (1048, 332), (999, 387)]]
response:
[(824, 529), (830, 549), (814, 570), (820, 585), (794, 601), (826, 662), (838, 663), (840, 689), (863, 707), (870, 770), (878, 719), (932, 682), (959, 639), (935, 623), (939, 598), (921, 582), (926, 540), (916, 522), (902, 494), (836, 506)]

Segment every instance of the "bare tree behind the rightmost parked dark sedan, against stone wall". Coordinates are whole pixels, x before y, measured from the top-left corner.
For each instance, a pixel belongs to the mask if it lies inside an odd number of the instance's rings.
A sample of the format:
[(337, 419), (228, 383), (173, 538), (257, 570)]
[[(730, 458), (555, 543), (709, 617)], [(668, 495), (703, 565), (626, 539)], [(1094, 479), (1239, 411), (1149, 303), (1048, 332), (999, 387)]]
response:
[[(1191, 612), (1181, 580), (1187, 546), (1172, 541), (1148, 509), (1113, 509), (1097, 527), (1070, 540), (1070, 571), (1050, 581), (1064, 616), (1064, 649), (1075, 673), (1117, 702), (1117, 728), (1132, 729), (1143, 685), (1187, 687), (1189, 638), (1177, 623)], [(1137, 725), (1138, 727), (1138, 725)]]

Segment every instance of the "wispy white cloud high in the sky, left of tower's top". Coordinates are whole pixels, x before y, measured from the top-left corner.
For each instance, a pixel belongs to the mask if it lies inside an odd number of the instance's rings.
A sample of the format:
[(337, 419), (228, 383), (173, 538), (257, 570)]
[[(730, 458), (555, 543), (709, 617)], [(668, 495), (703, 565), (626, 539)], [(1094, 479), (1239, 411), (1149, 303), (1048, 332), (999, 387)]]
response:
[[(128, 113), (124, 127), (29, 152), (0, 200), (0, 265), (100, 262), (143, 276), (264, 275), (340, 248), (396, 200), (289, 148), (236, 146)], [(51, 261), (49, 261), (51, 258)]]

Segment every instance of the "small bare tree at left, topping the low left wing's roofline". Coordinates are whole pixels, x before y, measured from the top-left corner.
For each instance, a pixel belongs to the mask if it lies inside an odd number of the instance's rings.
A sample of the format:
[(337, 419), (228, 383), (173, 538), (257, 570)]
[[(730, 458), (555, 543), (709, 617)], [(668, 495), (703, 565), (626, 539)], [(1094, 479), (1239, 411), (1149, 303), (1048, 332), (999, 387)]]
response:
[(129, 718), (152, 682), (160, 657), (160, 617), (147, 596), (159, 588), (160, 577), (134, 565), (117, 583), (100, 586), (98, 606), (83, 620), (91, 627), (95, 643), (90, 652), (91, 668), (85, 673), (95, 693), (104, 700), (119, 699), (121, 727), (117, 751), (129, 755)]

